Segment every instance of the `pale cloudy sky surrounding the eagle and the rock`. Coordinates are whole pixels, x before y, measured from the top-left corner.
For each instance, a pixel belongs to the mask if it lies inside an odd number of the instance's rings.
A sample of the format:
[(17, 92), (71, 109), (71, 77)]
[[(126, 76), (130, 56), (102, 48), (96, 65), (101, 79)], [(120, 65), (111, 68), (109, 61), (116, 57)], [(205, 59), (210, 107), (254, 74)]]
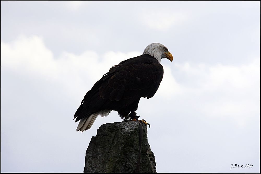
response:
[[(174, 57), (137, 114), (157, 172), (260, 172), (260, 1), (1, 1), (1, 172), (83, 172), (76, 109), (150, 43)], [(231, 168), (231, 164), (252, 164)]]

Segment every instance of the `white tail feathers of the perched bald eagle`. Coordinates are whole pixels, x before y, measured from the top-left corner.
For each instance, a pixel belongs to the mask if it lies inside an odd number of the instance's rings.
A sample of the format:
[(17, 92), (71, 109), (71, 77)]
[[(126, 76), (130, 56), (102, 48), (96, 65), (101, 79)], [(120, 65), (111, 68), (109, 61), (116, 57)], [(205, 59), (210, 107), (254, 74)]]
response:
[(93, 113), (89, 117), (82, 118), (80, 120), (80, 123), (78, 124), (76, 131), (82, 131), (83, 132), (85, 130), (90, 129), (92, 127), (94, 121), (96, 120), (96, 118), (99, 115), (101, 115), (102, 117), (106, 117), (106, 116), (109, 115), (110, 112), (111, 112), (111, 110), (103, 110), (103, 111)]

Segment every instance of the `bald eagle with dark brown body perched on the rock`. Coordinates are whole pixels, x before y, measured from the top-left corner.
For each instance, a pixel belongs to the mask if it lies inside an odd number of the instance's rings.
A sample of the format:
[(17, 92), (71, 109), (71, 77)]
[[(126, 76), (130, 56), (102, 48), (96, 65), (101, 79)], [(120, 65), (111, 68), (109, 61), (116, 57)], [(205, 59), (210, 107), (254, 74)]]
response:
[(135, 121), (141, 97), (153, 97), (163, 77), (161, 59), (171, 62), (173, 56), (167, 47), (159, 43), (148, 45), (143, 55), (122, 61), (113, 66), (97, 81), (81, 101), (74, 114), (79, 122), (76, 131), (90, 129), (98, 115), (102, 117), (114, 110), (122, 119)]

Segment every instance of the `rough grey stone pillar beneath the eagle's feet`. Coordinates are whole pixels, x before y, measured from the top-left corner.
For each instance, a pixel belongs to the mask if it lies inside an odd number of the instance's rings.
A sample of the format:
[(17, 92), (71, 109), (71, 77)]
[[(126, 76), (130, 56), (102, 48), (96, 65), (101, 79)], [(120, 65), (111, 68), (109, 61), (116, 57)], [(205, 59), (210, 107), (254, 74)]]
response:
[[(139, 155), (139, 126), (138, 121), (103, 124), (87, 148), (84, 173), (133, 173)], [(140, 173), (156, 173), (144, 124)]]

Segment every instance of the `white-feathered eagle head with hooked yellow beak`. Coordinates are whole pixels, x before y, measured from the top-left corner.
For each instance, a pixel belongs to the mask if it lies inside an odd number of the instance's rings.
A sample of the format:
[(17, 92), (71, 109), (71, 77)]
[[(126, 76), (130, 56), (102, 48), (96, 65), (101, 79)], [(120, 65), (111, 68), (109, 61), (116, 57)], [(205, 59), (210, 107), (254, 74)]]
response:
[(143, 54), (149, 54), (153, 56), (159, 63), (161, 63), (161, 59), (163, 58), (167, 58), (171, 62), (173, 61), (173, 56), (171, 55), (167, 47), (159, 43), (152, 43), (148, 45), (145, 48)]

